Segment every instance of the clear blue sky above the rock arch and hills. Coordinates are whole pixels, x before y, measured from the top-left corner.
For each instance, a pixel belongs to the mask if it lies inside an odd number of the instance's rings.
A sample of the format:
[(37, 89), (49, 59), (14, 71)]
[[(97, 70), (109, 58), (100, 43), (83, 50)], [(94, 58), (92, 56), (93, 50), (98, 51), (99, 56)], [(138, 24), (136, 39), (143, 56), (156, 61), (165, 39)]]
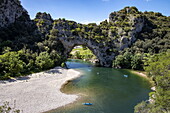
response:
[(33, 19), (37, 12), (50, 13), (53, 19), (65, 18), (79, 23), (99, 23), (126, 6), (140, 11), (170, 16), (170, 0), (20, 0)]

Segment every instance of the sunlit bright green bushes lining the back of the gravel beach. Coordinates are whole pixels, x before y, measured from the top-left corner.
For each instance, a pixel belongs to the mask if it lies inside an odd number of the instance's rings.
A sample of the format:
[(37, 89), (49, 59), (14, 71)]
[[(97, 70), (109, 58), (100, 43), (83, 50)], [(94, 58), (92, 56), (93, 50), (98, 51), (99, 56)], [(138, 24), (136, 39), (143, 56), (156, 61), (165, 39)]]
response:
[(21, 75), (46, 70), (59, 65), (60, 56), (54, 51), (34, 53), (28, 49), (20, 51), (5, 51), (0, 55), (0, 79), (18, 77)]

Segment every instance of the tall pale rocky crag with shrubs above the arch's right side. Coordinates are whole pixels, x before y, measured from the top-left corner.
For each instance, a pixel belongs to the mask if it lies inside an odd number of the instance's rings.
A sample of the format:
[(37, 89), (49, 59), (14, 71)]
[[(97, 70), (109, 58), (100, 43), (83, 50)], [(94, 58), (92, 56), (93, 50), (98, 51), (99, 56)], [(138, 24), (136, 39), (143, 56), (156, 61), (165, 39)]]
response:
[[(118, 25), (118, 39), (116, 39), (119, 50), (131, 46), (136, 41), (136, 35), (140, 33), (145, 25), (145, 17), (139, 14), (136, 7), (125, 7), (109, 15), (109, 22)], [(125, 25), (121, 25), (124, 23)], [(111, 35), (111, 34), (110, 34)]]

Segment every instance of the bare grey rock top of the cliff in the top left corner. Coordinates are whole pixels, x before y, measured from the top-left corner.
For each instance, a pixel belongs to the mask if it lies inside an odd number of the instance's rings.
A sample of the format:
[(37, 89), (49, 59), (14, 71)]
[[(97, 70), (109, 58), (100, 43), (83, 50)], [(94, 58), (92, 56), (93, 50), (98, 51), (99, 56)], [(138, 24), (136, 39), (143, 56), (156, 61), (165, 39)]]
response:
[(27, 11), (21, 6), (19, 0), (0, 0), (0, 28), (7, 27), (17, 19), (22, 19), (27, 15), (26, 20), (30, 20)]

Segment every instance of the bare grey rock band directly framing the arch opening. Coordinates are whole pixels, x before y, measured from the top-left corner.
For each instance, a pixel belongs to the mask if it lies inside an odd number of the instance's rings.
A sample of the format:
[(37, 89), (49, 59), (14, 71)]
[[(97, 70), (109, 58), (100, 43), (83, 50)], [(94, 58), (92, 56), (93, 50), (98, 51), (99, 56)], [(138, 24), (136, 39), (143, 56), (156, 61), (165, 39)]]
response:
[(115, 53), (109, 51), (111, 49), (109, 46), (103, 45), (103, 43), (96, 43), (93, 40), (85, 39), (81, 37), (76, 37), (74, 39), (70, 39), (67, 37), (60, 37), (59, 40), (62, 42), (65, 51), (64, 55), (68, 57), (69, 53), (72, 51), (72, 49), (77, 45), (84, 45), (88, 47), (93, 54), (97, 57), (99, 60), (99, 65), (104, 67), (111, 67), (112, 61), (115, 57)]

